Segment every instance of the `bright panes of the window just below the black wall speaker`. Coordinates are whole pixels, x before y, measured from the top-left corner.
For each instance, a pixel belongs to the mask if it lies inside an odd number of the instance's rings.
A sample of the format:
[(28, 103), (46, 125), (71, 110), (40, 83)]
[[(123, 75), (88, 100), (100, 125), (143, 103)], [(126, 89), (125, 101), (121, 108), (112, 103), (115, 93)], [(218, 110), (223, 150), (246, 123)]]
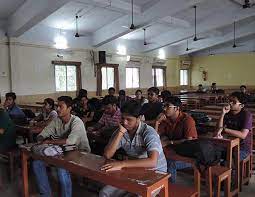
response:
[(102, 89), (114, 87), (114, 68), (102, 67)]

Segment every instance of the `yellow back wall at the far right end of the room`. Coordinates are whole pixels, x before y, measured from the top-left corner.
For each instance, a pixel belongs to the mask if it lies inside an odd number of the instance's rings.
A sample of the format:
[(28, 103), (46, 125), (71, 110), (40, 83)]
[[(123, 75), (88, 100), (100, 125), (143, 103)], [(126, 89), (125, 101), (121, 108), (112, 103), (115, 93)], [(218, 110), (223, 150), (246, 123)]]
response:
[[(202, 71), (208, 72), (207, 81)], [(255, 86), (255, 53), (200, 56), (192, 58), (191, 85), (216, 82), (223, 88), (238, 88), (241, 84)]]

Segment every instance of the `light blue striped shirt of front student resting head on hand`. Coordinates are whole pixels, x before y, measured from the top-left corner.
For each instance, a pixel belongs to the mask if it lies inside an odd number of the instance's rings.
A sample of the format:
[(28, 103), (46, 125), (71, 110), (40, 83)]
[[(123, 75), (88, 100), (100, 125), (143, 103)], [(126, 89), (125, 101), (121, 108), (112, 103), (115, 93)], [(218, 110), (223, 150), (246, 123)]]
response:
[[(119, 132), (116, 131), (110, 141)], [(117, 147), (117, 149), (123, 148), (128, 156), (142, 159), (148, 158), (148, 153), (151, 151), (157, 151), (159, 154), (156, 170), (166, 172), (167, 163), (162, 149), (159, 135), (151, 126), (140, 122), (139, 127), (135, 133), (134, 138), (131, 140), (128, 132), (126, 132)]]

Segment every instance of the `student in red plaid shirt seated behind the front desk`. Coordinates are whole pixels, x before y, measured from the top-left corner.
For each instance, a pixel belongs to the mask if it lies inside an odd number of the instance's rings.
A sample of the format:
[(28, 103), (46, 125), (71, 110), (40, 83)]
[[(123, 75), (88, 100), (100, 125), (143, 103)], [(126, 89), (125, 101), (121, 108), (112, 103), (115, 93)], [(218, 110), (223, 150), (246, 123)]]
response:
[(119, 125), (121, 113), (120, 109), (117, 107), (117, 98), (112, 95), (107, 95), (103, 99), (103, 105), (104, 113), (102, 117), (93, 127), (88, 127), (88, 132), (113, 132), (113, 129), (116, 129)]

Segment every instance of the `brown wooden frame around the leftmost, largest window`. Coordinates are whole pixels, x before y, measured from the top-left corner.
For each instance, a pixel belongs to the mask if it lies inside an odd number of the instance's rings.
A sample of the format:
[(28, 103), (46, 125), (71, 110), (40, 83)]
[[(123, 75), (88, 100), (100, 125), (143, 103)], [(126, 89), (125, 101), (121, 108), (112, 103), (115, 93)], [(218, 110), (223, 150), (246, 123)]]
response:
[[(82, 88), (81, 82), (81, 62), (74, 62), (74, 61), (52, 61), (52, 65), (54, 65), (54, 85), (55, 85), (55, 92), (78, 92)], [(57, 91), (56, 90), (56, 71), (55, 66), (75, 66), (76, 67), (76, 90), (75, 91), (68, 91), (67, 87), (65, 91)]]

